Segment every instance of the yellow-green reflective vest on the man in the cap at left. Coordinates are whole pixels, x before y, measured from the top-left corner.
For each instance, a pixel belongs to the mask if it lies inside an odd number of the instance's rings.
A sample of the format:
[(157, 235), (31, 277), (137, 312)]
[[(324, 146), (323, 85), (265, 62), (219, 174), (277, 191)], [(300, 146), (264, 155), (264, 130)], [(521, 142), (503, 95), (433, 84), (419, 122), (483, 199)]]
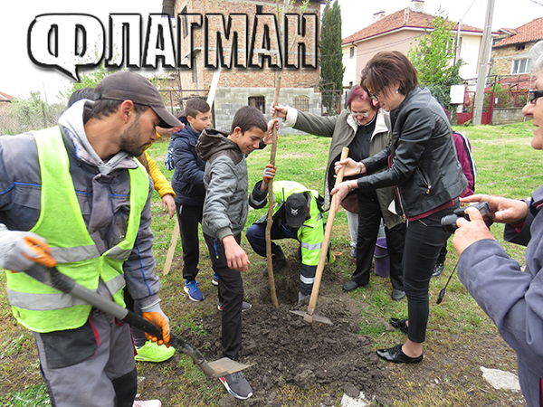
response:
[[(138, 235), (141, 212), (148, 199), (148, 175), (143, 166), (130, 169), (130, 212), (124, 240), (102, 255), (90, 238), (81, 214), (62, 142), (60, 128), (33, 132), (42, 177), (41, 211), (31, 232), (45, 238), (58, 261), (57, 269), (86, 289), (98, 289), (102, 279), (117, 304), (124, 307), (122, 264)], [(91, 306), (27, 276), (6, 271), (7, 293), (14, 317), (35, 332), (81, 327)]]

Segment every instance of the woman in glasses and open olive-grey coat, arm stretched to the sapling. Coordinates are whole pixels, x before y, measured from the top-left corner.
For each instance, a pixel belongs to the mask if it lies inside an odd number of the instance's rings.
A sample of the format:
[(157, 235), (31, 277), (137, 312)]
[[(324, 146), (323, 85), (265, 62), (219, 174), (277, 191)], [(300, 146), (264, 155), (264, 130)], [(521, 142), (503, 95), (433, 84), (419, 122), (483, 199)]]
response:
[[(285, 118), (286, 126), (293, 126), (315, 136), (332, 137), (326, 170), (326, 191), (330, 191), (335, 184), (334, 163), (341, 156), (343, 147), (348, 147), (349, 157), (359, 161), (381, 151), (388, 143), (386, 113), (378, 108), (378, 104), (372, 102), (366, 90), (360, 85), (354, 86), (349, 92), (347, 106), (348, 109), (343, 110), (339, 115), (328, 118), (281, 105), (271, 108), (271, 114), (277, 111), (279, 118)], [(357, 222), (354, 222), (357, 223), (356, 227), (352, 226), (353, 222), (349, 220), (349, 228), (357, 230), (357, 268), (343, 289), (352, 291), (369, 283), (377, 234), (381, 218), (383, 218), (390, 260), (392, 298), (395, 300), (404, 298), (402, 258), (405, 222), (402, 216), (396, 213), (394, 189), (388, 187), (360, 193), (353, 192), (350, 196), (354, 204), (346, 205), (346, 210), (349, 218), (356, 217), (357, 219)], [(326, 194), (326, 201), (328, 207), (329, 194)]]

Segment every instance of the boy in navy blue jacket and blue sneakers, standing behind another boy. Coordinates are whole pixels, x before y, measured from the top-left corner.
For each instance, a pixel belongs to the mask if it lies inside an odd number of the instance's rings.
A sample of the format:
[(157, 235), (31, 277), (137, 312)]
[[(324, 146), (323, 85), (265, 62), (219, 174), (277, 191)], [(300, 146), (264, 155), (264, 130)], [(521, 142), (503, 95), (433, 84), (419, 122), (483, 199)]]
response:
[[(205, 162), (196, 154), (196, 143), (200, 133), (211, 126), (211, 109), (203, 99), (193, 98), (186, 102), (188, 125), (172, 135), (175, 171), (172, 188), (176, 193), (176, 212), (183, 247), (183, 279), (188, 298), (204, 299), (198, 288), (196, 275), (200, 260), (198, 223), (202, 223), (204, 209)], [(214, 279), (215, 282), (215, 279)]]

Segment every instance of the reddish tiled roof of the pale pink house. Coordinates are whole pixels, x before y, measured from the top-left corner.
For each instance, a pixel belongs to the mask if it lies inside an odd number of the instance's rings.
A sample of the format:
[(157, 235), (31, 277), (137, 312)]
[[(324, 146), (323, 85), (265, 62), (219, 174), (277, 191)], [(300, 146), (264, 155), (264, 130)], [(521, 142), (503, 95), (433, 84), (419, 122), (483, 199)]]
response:
[[(386, 15), (374, 24), (368, 25), (366, 28), (357, 33), (349, 35), (341, 42), (342, 45), (365, 40), (370, 37), (375, 37), (383, 33), (390, 33), (400, 28), (422, 28), (432, 29), (432, 22), (435, 16), (432, 14), (415, 12), (409, 7), (397, 11), (393, 14)], [(452, 25), (452, 30), (457, 29), (457, 23)], [(462, 32), (482, 33), (481, 28), (473, 27), (472, 25), (462, 24)]]

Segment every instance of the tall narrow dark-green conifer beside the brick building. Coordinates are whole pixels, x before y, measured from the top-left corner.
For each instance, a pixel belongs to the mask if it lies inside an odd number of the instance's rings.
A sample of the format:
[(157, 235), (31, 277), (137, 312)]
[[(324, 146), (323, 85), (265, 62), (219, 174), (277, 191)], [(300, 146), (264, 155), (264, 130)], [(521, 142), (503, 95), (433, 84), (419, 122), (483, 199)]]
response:
[[(329, 114), (335, 114), (343, 90), (343, 54), (341, 52), (341, 10), (336, 0), (330, 7), (327, 0), (320, 27), (320, 90)], [(334, 96), (331, 90), (338, 90)]]

